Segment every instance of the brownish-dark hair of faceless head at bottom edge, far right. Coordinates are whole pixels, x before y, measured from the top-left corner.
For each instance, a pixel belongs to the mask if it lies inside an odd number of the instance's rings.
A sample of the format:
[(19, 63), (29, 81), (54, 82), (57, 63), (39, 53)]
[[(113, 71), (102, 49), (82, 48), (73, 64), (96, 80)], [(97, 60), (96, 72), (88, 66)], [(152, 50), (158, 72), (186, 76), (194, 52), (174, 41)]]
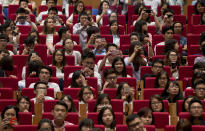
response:
[(191, 131), (192, 125), (191, 122), (187, 119), (180, 119), (177, 122), (176, 131)]

